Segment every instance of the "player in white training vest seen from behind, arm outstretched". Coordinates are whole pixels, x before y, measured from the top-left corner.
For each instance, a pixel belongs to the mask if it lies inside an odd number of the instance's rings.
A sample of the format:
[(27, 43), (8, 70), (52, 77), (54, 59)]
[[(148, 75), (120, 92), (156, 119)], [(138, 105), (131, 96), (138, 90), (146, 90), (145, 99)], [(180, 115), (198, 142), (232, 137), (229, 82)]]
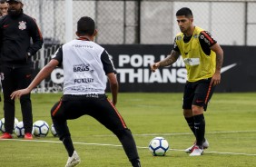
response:
[[(66, 167), (80, 163), (74, 150), (67, 120), (77, 119), (88, 114), (107, 129), (112, 131), (123, 144), (133, 167), (140, 167), (140, 159), (131, 131), (127, 128), (120, 113), (115, 108), (117, 103), (118, 82), (116, 71), (109, 54), (99, 44), (94, 43), (97, 34), (94, 20), (88, 16), (77, 22), (77, 39), (62, 45), (52, 60), (35, 76), (34, 81), (23, 90), (12, 93), (12, 99), (30, 93), (44, 78), (52, 73), (56, 66), (64, 68), (64, 95), (54, 104), (51, 116), (60, 140), (68, 152)], [(105, 95), (107, 79), (110, 83), (112, 101)]]

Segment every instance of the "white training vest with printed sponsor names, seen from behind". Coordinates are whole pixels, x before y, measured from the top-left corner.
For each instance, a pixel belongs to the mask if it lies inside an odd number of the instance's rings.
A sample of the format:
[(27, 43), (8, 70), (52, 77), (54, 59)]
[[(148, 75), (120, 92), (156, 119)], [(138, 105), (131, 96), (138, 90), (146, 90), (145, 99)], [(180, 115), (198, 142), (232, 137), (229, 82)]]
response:
[(64, 94), (104, 93), (103, 50), (92, 41), (73, 40), (63, 45)]

